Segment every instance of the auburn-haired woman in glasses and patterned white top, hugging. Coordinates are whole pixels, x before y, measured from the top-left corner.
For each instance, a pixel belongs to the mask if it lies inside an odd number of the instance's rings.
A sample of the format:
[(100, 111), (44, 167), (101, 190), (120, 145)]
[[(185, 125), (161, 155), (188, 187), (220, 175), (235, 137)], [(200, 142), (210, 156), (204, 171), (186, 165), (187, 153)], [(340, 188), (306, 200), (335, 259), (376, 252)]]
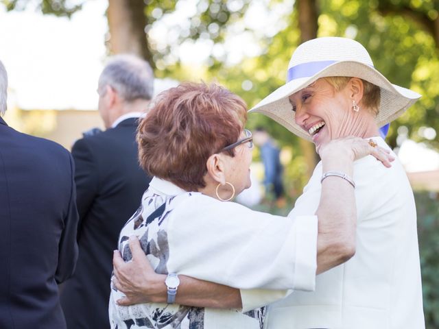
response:
[(244, 101), (226, 88), (185, 83), (161, 93), (139, 125), (139, 159), (154, 178), (121, 230), (119, 261), (139, 257), (130, 239), (137, 236), (140, 256), (147, 255), (162, 274), (167, 297), (118, 305), (124, 295), (115, 267), (112, 328), (262, 328), (264, 308), (242, 313), (183, 306), (180, 280), (191, 276), (239, 289), (312, 290), (316, 271), (355, 252), (353, 161), (372, 154), (390, 167), (392, 158), (361, 138), (333, 141), (319, 150), (328, 178), (316, 215), (256, 212), (228, 202), (250, 186), (252, 136), (244, 128), (246, 115)]

